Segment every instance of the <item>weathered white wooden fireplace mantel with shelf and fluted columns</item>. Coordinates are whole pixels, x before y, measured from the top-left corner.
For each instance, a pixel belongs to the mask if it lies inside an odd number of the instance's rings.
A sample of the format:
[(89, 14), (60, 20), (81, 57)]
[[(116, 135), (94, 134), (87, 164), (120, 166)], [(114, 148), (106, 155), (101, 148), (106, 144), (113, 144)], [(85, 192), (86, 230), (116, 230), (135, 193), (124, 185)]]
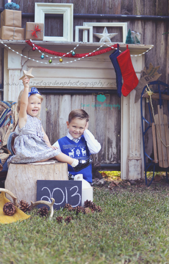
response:
[[(113, 50), (108, 53), (104, 53), (98, 56), (85, 57), (82, 60), (78, 60), (73, 63), (58, 63), (58, 65), (42, 64), (36, 62), (40, 60), (40, 54), (37, 50), (32, 51), (32, 47), (29, 46), (25, 40), (1, 40), (5, 45), (0, 43), (0, 47), (4, 48), (4, 100), (16, 101), (22, 87), (20, 86), (19, 78), (23, 75), (23, 70), (29, 70), (33, 68), (32, 74), (35, 76), (33, 80), (38, 89), (42, 88), (37, 83), (43, 79), (46, 83), (50, 81), (48, 88), (78, 88), (83, 87), (71, 87), (59, 85), (53, 85), (52, 82), (57, 79), (58, 83), (74, 82), (87, 82), (89, 86), (87, 89), (117, 89), (115, 71), (109, 55)], [(52, 42), (52, 41), (33, 41), (33, 43), (42, 46), (46, 49), (67, 53), (76, 47), (76, 42)], [(96, 50), (103, 43), (80, 43), (76, 48), (75, 53), (89, 53)], [(116, 43), (107, 43), (108, 45), (114, 45)], [(101, 49), (107, 48), (104, 45)], [(130, 49), (130, 55), (134, 70), (138, 79), (140, 79), (141, 71), (144, 68), (144, 57), (145, 55), (139, 55), (145, 53), (153, 45), (137, 45), (128, 44)], [(12, 51), (15, 50), (16, 52)], [(126, 44), (120, 44), (120, 51), (126, 50)], [(150, 51), (151, 52), (151, 51)], [(26, 58), (24, 57), (26, 56)], [(34, 61), (28, 60), (28, 57), (36, 58)], [(50, 57), (50, 55), (49, 55)], [(48, 58), (44, 58), (43, 62), (48, 62)], [(72, 58), (64, 58), (63, 60), (70, 61)], [(59, 62), (58, 58), (55, 59)], [(92, 87), (90, 82), (97, 82), (98, 85)], [(99, 82), (112, 83), (111, 86), (103, 87), (100, 86)], [(19, 83), (19, 84), (18, 84)], [(5, 85), (6, 84), (6, 85)], [(9, 84), (9, 85), (8, 85)], [(52, 86), (53, 85), (53, 86)], [(144, 88), (144, 87), (143, 87)], [(121, 97), (121, 178), (123, 180), (138, 180), (144, 177), (144, 158), (142, 148), (142, 132), (141, 132), (141, 111), (140, 111), (140, 100), (134, 103), (135, 90), (132, 90), (127, 97), (122, 95)]]

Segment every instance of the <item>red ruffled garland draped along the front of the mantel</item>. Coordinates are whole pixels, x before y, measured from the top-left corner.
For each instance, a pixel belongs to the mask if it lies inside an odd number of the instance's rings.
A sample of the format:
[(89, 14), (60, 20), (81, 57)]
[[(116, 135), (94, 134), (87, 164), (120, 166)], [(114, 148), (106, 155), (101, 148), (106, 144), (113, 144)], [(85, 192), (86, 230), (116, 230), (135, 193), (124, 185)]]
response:
[[(30, 45), (31, 47), (33, 47), (33, 44), (32, 44), (32, 42), (30, 40), (26, 40), (26, 43), (28, 45)], [(54, 56), (58, 56), (58, 57), (62, 57), (63, 55), (65, 55), (64, 57), (69, 57), (69, 58), (82, 58), (82, 57), (85, 57), (86, 55), (88, 55), (87, 57), (92, 57), (92, 56), (96, 56), (96, 55), (100, 55), (100, 54), (106, 53), (106, 52), (112, 50), (111, 47), (117, 48), (117, 44), (114, 44), (113, 46), (105, 48), (103, 50), (95, 51), (95, 52), (93, 52), (91, 54), (89, 54), (89, 53), (83, 53), (83, 54), (76, 53), (74, 56), (71, 53), (70, 54), (66, 54), (66, 53), (62, 53), (62, 52), (56, 52), (56, 51), (53, 51), (53, 50), (48, 50), (48, 49), (42, 48), (42, 47), (40, 47), (40, 46), (38, 46), (36, 44), (34, 44), (34, 47), (37, 47), (38, 50), (40, 50), (42, 52), (46, 52), (48, 54), (51, 54), (51, 55), (54, 55)]]

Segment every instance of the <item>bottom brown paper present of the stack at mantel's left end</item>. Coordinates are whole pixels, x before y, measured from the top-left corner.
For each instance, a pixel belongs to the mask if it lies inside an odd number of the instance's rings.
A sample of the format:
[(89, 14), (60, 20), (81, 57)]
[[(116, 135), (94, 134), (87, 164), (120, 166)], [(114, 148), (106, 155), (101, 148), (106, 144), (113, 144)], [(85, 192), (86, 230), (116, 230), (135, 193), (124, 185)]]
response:
[(25, 28), (2, 26), (0, 28), (0, 39), (24, 40), (25, 39)]

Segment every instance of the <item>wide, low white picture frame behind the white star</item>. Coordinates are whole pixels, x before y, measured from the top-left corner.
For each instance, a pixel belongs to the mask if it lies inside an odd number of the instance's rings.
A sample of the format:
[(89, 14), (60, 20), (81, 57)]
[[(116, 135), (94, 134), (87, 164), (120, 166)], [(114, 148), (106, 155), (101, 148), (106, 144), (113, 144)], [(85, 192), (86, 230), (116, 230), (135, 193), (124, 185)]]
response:
[[(126, 37), (127, 37), (127, 22), (122, 22), (122, 23), (109, 23), (109, 22), (83, 22), (83, 26), (93, 26), (93, 27), (122, 27), (123, 28), (123, 42), (119, 42), (119, 44), (121, 43), (125, 43), (126, 42)], [(93, 40), (92, 40), (93, 42)]]

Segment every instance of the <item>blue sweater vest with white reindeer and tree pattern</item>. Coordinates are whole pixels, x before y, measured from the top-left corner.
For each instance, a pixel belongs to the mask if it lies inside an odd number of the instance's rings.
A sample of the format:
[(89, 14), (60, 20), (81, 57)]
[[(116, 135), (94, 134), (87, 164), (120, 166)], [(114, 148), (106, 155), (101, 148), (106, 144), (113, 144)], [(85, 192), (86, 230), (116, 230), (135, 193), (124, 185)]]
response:
[[(71, 158), (80, 159), (80, 160), (88, 160), (90, 158), (89, 149), (87, 147), (87, 143), (83, 135), (81, 136), (78, 143), (75, 143), (67, 136), (58, 139), (58, 143), (61, 148), (61, 152), (63, 152), (64, 154), (68, 155)], [(75, 172), (73, 170), (73, 167), (68, 164), (68, 172), (74, 176), (79, 173), (83, 174), (83, 179), (92, 183), (92, 164), (80, 170), (79, 172)]]

